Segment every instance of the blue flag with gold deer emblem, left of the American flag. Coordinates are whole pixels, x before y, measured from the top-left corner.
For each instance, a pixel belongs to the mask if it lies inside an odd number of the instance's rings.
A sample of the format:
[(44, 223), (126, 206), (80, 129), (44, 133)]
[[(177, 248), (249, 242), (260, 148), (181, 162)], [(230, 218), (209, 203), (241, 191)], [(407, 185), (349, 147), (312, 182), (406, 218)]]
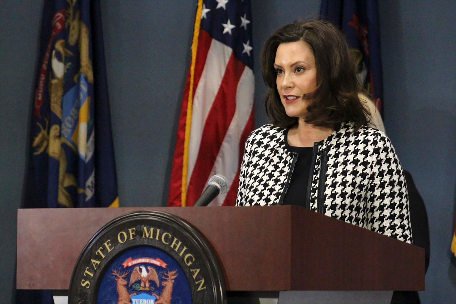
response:
[(99, 0), (45, 0), (36, 73), (23, 207), (118, 206)]

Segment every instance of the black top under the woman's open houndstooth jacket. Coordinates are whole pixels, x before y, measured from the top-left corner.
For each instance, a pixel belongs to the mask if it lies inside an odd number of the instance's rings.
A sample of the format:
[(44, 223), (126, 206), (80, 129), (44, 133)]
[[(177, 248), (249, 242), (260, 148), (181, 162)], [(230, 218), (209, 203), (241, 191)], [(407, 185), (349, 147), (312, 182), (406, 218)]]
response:
[[(311, 171), (313, 147), (294, 147), (288, 143), (288, 130), (285, 132), (285, 147), (298, 154), (290, 184), (285, 193), (284, 205), (306, 206), (307, 184)], [(296, 157), (296, 156), (295, 156)]]

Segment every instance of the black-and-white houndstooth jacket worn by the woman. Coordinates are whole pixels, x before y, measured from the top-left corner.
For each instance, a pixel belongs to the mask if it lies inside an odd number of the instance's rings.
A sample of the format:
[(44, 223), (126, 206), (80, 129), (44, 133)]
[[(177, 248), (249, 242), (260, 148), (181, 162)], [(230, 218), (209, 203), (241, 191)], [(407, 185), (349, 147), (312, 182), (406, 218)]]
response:
[[(280, 205), (298, 154), (285, 148), (286, 129), (270, 124), (247, 139), (237, 206)], [(402, 166), (388, 137), (343, 123), (315, 143), (306, 207), (401, 241), (412, 242)]]

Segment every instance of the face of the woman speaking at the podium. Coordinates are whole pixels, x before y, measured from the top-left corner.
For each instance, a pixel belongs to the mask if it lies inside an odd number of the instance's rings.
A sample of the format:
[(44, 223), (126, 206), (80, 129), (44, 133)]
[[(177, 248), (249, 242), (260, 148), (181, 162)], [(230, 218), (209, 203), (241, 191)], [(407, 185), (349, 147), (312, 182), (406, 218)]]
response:
[(315, 56), (307, 42), (281, 43), (275, 53), (276, 84), (285, 112), (305, 119), (309, 100), (316, 89)]

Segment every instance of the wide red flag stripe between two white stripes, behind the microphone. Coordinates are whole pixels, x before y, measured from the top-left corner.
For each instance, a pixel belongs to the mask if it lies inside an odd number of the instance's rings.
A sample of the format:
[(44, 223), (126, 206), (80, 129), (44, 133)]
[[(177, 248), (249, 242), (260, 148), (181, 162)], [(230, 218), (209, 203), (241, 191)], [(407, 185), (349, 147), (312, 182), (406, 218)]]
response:
[(187, 191), (187, 206), (200, 196), (236, 110), (236, 91), (245, 65), (231, 54), (220, 89), (207, 115), (197, 160)]

